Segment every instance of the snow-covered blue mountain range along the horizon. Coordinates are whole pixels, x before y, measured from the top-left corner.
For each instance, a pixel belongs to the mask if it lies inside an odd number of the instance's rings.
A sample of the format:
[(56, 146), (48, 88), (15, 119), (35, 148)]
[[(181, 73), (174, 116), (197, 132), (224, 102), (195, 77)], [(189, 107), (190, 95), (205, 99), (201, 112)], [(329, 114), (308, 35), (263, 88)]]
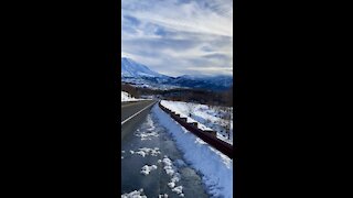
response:
[(232, 76), (183, 75), (171, 77), (151, 70), (148, 66), (121, 57), (121, 81), (153, 89), (191, 88), (226, 90), (233, 85)]

